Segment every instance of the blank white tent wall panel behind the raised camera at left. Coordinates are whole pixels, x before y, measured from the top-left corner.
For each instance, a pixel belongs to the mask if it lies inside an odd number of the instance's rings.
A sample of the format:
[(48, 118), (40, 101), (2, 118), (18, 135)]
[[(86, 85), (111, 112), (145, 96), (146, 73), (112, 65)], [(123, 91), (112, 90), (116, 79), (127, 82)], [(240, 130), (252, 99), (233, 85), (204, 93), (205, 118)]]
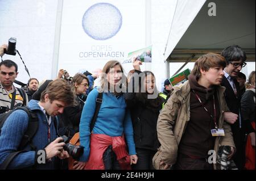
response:
[[(49, 79), (52, 70), (53, 44), (55, 37), (57, 0), (12, 0), (0, 1), (0, 44), (8, 44), (16, 37), (19, 50), (31, 77), (39, 81)], [(29, 79), (18, 53), (5, 54), (18, 64), (18, 81)]]

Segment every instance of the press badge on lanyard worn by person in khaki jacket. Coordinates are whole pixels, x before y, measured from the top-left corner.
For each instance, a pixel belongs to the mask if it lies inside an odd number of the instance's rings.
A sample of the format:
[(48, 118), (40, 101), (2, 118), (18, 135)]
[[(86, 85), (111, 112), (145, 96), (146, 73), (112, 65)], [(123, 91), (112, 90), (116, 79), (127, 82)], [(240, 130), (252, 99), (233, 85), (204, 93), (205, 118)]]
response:
[(217, 122), (216, 122), (216, 107), (215, 107), (215, 99), (214, 99), (214, 95), (213, 95), (213, 110), (214, 110), (214, 117), (212, 116), (212, 114), (207, 110), (207, 108), (204, 106), (204, 104), (201, 102), (201, 99), (199, 98), (199, 95), (196, 94), (196, 92), (194, 90), (192, 90), (193, 93), (196, 95), (197, 100), (199, 100), (199, 102), (201, 103), (201, 106), (204, 108), (204, 110), (206, 112), (209, 113), (210, 117), (213, 119), (214, 121), (214, 126), (215, 129), (211, 129), (210, 132), (212, 133), (212, 136), (225, 136), (224, 133), (224, 129), (218, 129), (217, 126)]

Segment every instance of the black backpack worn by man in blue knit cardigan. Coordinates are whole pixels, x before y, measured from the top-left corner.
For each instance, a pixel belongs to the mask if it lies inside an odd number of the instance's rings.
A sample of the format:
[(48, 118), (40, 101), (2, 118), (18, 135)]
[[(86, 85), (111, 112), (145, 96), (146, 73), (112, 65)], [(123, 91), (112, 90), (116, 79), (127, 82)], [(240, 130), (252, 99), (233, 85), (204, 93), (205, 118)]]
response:
[[(6, 112), (6, 113), (2, 113), (0, 115), (0, 136), (1, 136), (1, 129), (3, 127), (3, 124), (5, 123), (7, 117), (9, 117), (11, 115), (11, 113), (13, 113), (16, 110), (23, 110), (27, 113), (28, 115), (28, 127), (27, 127), (27, 131), (24, 133), (23, 137), (22, 137), (22, 141), (20, 142), (18, 151), (15, 151), (11, 154), (8, 155), (8, 157), (5, 159), (5, 161), (0, 165), (0, 170), (5, 170), (7, 169), (8, 165), (10, 164), (10, 162), (13, 160), (13, 158), (21, 153), (24, 152), (24, 148), (27, 145), (30, 145), (32, 150), (36, 150), (35, 146), (32, 145), (32, 138), (35, 136), (35, 133), (38, 131), (38, 116), (36, 115), (36, 112), (33, 112), (32, 110), (30, 110), (30, 108), (28, 108), (27, 106), (19, 106), (17, 108), (15, 108), (15, 110)], [(56, 128), (56, 121), (54, 121), (55, 124), (55, 128)]]

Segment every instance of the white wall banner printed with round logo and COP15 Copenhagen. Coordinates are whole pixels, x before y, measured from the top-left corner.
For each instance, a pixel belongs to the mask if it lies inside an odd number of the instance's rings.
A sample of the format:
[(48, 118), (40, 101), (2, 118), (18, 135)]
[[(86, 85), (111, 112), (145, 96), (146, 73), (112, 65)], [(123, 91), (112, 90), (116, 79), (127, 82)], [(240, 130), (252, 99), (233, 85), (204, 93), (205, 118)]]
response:
[(123, 61), (144, 47), (145, 1), (64, 0), (58, 69), (69, 74)]

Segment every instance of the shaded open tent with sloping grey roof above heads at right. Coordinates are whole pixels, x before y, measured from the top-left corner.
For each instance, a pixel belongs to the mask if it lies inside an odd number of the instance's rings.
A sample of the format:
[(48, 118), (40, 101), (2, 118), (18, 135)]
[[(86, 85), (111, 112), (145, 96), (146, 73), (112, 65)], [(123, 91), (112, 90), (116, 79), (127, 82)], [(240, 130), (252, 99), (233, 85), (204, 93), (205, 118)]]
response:
[[(210, 16), (213, 3), (216, 14)], [(248, 78), (255, 70), (255, 0), (207, 0), (168, 57), (167, 74), (171, 77), (192, 54), (196, 56), (180, 71), (192, 69), (201, 54), (221, 53), (230, 45), (245, 50), (247, 65), (241, 71)]]

